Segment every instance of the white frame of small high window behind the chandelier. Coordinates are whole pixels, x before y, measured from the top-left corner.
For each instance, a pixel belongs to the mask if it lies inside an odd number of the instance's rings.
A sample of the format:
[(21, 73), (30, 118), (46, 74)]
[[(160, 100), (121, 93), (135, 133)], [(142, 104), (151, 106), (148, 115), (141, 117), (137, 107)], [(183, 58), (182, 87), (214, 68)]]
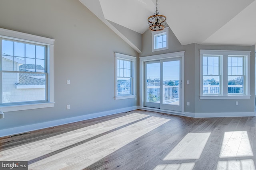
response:
[[(169, 27), (164, 28), (162, 31), (152, 31), (152, 52), (169, 49)], [(166, 47), (157, 49), (157, 37), (166, 34)]]

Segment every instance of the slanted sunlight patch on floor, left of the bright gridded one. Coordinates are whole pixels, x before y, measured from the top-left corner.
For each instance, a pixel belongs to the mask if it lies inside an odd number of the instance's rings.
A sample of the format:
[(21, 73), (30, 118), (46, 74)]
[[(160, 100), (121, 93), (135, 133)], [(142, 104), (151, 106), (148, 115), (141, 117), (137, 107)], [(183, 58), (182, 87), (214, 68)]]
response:
[(164, 160), (199, 159), (211, 133), (188, 133)]

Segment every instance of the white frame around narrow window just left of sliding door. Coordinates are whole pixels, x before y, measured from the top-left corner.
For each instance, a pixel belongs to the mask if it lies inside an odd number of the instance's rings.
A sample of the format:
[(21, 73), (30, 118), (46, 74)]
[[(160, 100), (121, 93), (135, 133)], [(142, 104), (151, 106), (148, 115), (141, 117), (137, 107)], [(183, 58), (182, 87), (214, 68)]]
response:
[[(122, 94), (118, 95), (118, 89), (117, 89), (117, 60), (128, 60), (131, 61), (131, 94)], [(115, 100), (120, 99), (128, 99), (128, 98), (136, 98), (136, 57), (130, 56), (130, 55), (124, 55), (120, 53), (115, 53)]]

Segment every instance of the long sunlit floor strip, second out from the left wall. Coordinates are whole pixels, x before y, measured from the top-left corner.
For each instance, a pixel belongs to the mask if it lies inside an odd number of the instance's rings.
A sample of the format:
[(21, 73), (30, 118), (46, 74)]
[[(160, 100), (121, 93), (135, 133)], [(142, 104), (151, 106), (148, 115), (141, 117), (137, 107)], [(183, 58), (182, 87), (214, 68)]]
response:
[(52, 165), (61, 162), (64, 162), (66, 165), (63, 164), (61, 167), (59, 166), (59, 169), (64, 168), (70, 170), (86, 168), (168, 121), (170, 121), (170, 119), (154, 116), (149, 117), (72, 149), (64, 150), (63, 152), (32, 163), (28, 168), (54, 169)]

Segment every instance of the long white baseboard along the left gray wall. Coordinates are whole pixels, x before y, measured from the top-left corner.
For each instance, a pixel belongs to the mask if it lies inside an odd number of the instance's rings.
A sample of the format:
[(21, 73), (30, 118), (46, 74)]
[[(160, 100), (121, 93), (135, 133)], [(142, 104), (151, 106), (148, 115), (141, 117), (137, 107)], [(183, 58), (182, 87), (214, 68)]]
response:
[(44, 128), (48, 128), (48, 127), (54, 127), (54, 126), (58, 126), (58, 125), (64, 125), (67, 123), (74, 123), (77, 121), (93, 119), (96, 117), (102, 117), (102, 116), (106, 116), (106, 115), (113, 115), (116, 113), (122, 113), (122, 112), (136, 110), (136, 109), (138, 109), (137, 106), (126, 107), (126, 108), (122, 108), (122, 109), (102, 111), (102, 112), (92, 113), (92, 114), (88, 114), (88, 115), (69, 117), (66, 119), (59, 119), (59, 120), (48, 121), (48, 122), (43, 122), (43, 123), (36, 123), (36, 124), (25, 125), (25, 126), (20, 126), (20, 127), (13, 127), (13, 128), (9, 128), (9, 129), (1, 129), (0, 137), (10, 136), (10, 135), (19, 134), (19, 133), (25, 133), (25, 132), (34, 131), (34, 130), (38, 130), (38, 129), (44, 129)]

